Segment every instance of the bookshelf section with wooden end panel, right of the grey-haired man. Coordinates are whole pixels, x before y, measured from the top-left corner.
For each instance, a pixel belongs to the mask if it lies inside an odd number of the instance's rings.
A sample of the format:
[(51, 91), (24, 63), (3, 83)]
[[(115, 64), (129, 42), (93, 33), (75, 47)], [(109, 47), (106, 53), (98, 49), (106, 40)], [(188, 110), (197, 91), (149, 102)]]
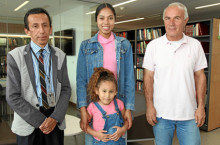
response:
[(202, 130), (211, 131), (220, 127), (220, 40), (218, 33), (220, 19), (209, 19), (203, 21), (189, 22), (186, 26), (186, 35), (199, 40), (203, 46), (203, 50), (207, 59), (208, 68), (206, 68), (206, 98), (205, 123), (201, 127)]

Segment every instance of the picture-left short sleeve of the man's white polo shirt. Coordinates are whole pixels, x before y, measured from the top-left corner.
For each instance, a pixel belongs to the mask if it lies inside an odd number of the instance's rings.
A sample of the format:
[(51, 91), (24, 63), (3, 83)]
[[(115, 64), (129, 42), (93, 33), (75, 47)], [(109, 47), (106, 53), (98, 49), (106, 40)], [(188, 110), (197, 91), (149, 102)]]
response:
[(150, 71), (154, 71), (154, 47), (153, 43), (150, 42), (147, 45), (145, 55), (144, 55), (144, 61), (142, 67), (145, 69), (148, 69)]

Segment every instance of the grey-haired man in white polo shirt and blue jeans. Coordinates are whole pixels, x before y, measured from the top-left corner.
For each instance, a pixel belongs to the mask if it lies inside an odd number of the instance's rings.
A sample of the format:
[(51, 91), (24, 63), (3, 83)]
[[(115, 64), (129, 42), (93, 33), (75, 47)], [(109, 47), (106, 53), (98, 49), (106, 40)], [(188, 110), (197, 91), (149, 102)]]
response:
[(205, 122), (207, 61), (200, 42), (183, 33), (186, 7), (170, 4), (163, 13), (166, 34), (151, 41), (144, 56), (146, 118), (157, 145), (172, 145), (176, 128), (180, 144), (200, 145)]

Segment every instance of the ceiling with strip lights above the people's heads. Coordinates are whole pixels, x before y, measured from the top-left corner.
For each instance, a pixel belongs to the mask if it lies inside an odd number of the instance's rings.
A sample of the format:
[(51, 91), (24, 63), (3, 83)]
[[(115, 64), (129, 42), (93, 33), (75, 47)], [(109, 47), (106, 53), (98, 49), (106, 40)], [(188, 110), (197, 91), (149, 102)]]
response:
[[(95, 10), (97, 5), (103, 2), (108, 2), (112, 5), (126, 0), (30, 0), (30, 2), (24, 6), (18, 12), (13, 10), (24, 2), (24, 0), (0, 0), (0, 17), (17, 17), (23, 19), (24, 14), (30, 8), (43, 7), (48, 10), (50, 15), (56, 15), (62, 11), (72, 9), (81, 5), (90, 5), (91, 11)], [(117, 19), (116, 21), (124, 21), (128, 19), (134, 19), (144, 17), (144, 20), (123, 23), (115, 25), (116, 29), (135, 29), (147, 26), (162, 25), (162, 13), (163, 9), (167, 7), (169, 3), (176, 0), (137, 0), (132, 3), (125, 4), (123, 6), (116, 7)], [(196, 6), (202, 6), (207, 4), (219, 3), (219, 0), (178, 0), (186, 5), (190, 20), (208, 19), (212, 17), (220, 17), (220, 5), (210, 8), (198, 9)], [(154, 17), (155, 15), (158, 15)], [(92, 16), (92, 24), (95, 27), (94, 14)]]

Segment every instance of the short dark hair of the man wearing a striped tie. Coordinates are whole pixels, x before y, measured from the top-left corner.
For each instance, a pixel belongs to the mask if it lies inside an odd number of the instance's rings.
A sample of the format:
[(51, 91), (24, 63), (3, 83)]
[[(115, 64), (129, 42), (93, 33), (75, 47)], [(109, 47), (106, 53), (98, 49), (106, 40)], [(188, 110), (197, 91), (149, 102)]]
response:
[(50, 15), (49, 13), (43, 9), (43, 8), (33, 8), (33, 9), (30, 9), (24, 16), (24, 27), (26, 29), (29, 30), (29, 26), (28, 26), (28, 16), (31, 15), (31, 14), (46, 14), (48, 19), (49, 19), (49, 22), (50, 22), (50, 27), (51, 27), (51, 18), (50, 18)]

